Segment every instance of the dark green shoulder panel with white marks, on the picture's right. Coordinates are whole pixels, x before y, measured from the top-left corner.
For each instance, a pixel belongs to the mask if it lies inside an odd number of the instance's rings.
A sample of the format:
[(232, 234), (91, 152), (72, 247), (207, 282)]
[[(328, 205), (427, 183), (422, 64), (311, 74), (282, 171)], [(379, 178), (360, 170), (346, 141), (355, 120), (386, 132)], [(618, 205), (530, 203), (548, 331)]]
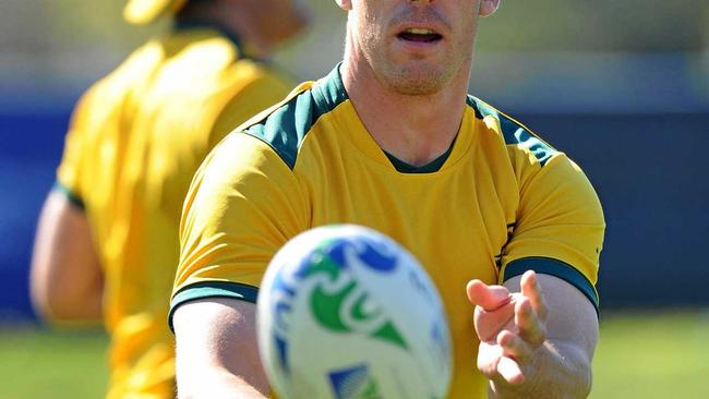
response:
[(544, 166), (550, 158), (558, 154), (552, 145), (532, 132), (531, 129), (484, 100), (469, 95), (467, 105), (472, 108), (476, 119), (485, 122), (486, 126), (504, 140), (505, 145), (513, 148), (513, 150), (531, 154), (541, 166)]

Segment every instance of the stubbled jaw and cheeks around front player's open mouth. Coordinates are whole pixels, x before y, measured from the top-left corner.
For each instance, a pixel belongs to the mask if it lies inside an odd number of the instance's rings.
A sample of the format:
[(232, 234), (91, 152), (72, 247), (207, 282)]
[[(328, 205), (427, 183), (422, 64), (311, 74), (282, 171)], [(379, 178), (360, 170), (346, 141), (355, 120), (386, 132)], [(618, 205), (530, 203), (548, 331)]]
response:
[[(418, 8), (410, 3), (388, 11), (392, 15), (364, 10), (351, 34), (359, 36), (360, 51), (382, 86), (406, 96), (428, 96), (446, 87), (461, 69), (469, 69), (476, 21), (472, 8), (465, 12), (469, 14), (461, 11), (459, 15), (443, 15), (434, 7)], [(452, 21), (453, 17), (456, 20)], [(397, 40), (392, 38), (392, 27), (411, 23), (445, 28), (446, 36), (437, 45), (442, 48), (435, 55), (402, 53), (392, 43)]]

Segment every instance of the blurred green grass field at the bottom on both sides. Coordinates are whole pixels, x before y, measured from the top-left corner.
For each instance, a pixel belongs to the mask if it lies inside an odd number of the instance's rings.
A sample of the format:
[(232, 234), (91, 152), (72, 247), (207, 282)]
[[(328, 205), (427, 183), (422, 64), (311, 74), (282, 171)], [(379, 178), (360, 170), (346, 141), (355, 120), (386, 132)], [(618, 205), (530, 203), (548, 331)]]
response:
[[(0, 328), (0, 399), (100, 398), (98, 332)], [(614, 313), (601, 322), (593, 399), (709, 398), (709, 312)]]

